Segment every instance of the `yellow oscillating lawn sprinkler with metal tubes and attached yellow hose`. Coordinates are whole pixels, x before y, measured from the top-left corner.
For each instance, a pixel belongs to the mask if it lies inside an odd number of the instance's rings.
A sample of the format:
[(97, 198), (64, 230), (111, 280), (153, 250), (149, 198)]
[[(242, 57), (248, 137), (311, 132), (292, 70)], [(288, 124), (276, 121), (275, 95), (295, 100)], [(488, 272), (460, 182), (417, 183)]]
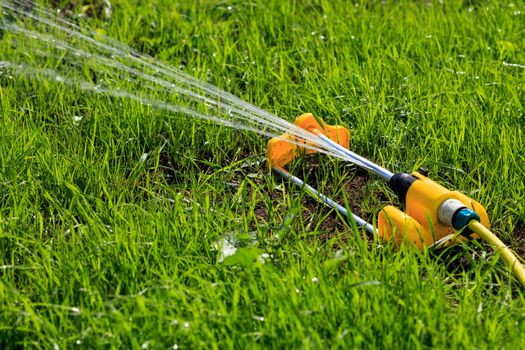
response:
[(514, 275), (525, 287), (525, 269), (514, 252), (508, 248), (490, 228), (485, 208), (477, 201), (459, 191), (450, 191), (427, 177), (428, 171), (419, 169), (411, 174), (394, 174), (349, 149), (350, 132), (342, 126), (331, 126), (312, 114), (303, 114), (295, 125), (316, 135), (321, 143), (330, 145), (345, 154), (357, 166), (367, 169), (388, 182), (405, 211), (392, 205), (385, 206), (377, 219), (377, 228), (363, 218), (349, 212), (333, 199), (320, 193), (301, 179), (285, 170), (293, 159), (314, 153), (308, 141), (296, 139), (288, 133), (268, 141), (266, 157), (273, 171), (292, 183), (304, 187), (311, 195), (351, 217), (357, 226), (369, 234), (378, 235), (382, 241), (392, 241), (399, 247), (406, 243), (422, 251), (427, 248), (449, 246), (460, 241), (481, 237), (501, 254)]

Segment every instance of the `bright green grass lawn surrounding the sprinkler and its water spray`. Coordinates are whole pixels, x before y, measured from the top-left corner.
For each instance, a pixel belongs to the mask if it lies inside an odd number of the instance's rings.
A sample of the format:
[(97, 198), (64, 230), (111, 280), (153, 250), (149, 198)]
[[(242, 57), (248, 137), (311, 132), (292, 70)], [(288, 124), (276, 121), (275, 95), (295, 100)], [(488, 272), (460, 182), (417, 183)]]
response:
[[(112, 5), (83, 25), (287, 120), (348, 126), (356, 152), (429, 168), (523, 252), (525, 69), (504, 64), (525, 64), (522, 1)], [(6, 74), (0, 99), (2, 348), (525, 346), (497, 255), (366, 238), (271, 175), (260, 136)], [(339, 199), (361, 176), (299, 163)], [(375, 177), (362, 195), (369, 219), (396, 203)], [(221, 263), (226, 235), (244, 248)]]

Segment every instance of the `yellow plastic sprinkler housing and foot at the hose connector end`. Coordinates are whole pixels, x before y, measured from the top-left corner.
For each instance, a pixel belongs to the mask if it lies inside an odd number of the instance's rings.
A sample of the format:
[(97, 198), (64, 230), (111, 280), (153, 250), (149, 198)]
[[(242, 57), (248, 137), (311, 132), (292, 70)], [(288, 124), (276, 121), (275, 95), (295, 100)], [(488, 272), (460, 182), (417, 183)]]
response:
[(442, 224), (438, 218), (439, 207), (447, 199), (459, 200), (479, 215), (483, 226), (490, 227), (487, 211), (480, 203), (461, 192), (450, 191), (418, 172), (412, 175), (417, 180), (408, 189), (406, 213), (391, 206), (379, 213), (378, 231), (381, 238), (392, 239), (396, 245), (406, 240), (422, 250), (453, 234), (455, 230)]

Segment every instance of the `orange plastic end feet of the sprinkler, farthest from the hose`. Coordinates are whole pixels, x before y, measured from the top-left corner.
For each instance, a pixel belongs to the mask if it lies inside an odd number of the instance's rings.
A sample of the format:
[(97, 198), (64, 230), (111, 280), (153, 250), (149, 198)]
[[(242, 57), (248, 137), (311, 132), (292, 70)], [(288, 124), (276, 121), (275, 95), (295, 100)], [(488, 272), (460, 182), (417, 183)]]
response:
[[(313, 134), (323, 134), (345, 148), (348, 148), (350, 145), (350, 132), (348, 129), (339, 125), (328, 125), (320, 118), (316, 120), (311, 113), (301, 115), (296, 119), (294, 124)], [(279, 137), (270, 139), (270, 141), (268, 141), (268, 148), (266, 149), (266, 159), (268, 160), (270, 168), (276, 167), (282, 169), (295, 157), (316, 152), (315, 150), (300, 146), (297, 143), (306, 146), (312, 145), (310, 141), (297, 138), (289, 133), (284, 133)]]

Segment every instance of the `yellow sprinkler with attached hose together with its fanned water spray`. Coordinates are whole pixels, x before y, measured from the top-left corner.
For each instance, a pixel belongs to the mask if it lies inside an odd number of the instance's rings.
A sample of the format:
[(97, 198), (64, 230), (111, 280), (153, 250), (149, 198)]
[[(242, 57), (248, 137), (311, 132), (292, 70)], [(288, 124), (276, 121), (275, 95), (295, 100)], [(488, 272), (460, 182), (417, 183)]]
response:
[[(481, 237), (501, 254), (525, 287), (523, 265), (489, 230), (489, 217), (480, 203), (446, 189), (423, 171), (394, 174), (351, 151), (350, 134), (344, 127), (327, 125), (311, 114), (290, 123), (31, 1), (0, 0), (0, 45), (6, 47), (0, 70), (14, 76), (137, 101), (270, 137), (267, 159), (276, 173), (351, 218), (369, 234), (420, 250), (443, 241)], [(404, 211), (386, 206), (374, 227), (285, 170), (294, 158), (312, 152), (352, 162), (384, 179)]]

